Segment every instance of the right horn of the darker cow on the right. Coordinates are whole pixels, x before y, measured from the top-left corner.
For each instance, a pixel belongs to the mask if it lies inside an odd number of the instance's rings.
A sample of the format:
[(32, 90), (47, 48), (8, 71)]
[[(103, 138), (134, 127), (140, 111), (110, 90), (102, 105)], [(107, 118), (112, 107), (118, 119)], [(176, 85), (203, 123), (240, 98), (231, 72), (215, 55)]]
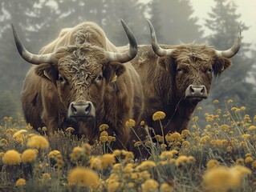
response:
[(241, 46), (241, 23), (238, 25), (237, 38), (234, 40), (234, 45), (229, 50), (215, 50), (217, 57), (232, 58), (238, 53)]

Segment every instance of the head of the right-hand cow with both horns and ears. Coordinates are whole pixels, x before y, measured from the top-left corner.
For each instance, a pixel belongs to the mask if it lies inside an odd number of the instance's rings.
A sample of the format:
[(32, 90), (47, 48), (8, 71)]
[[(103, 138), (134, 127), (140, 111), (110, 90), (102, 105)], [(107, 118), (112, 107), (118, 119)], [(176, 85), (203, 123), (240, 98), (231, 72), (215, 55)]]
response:
[[(241, 45), (241, 29), (229, 50), (214, 50), (205, 45), (189, 44), (161, 48), (156, 41), (155, 30), (149, 22), (152, 37), (152, 50), (160, 57), (157, 64), (168, 70), (176, 85), (178, 98), (189, 102), (199, 102), (207, 98), (212, 82), (212, 74), (221, 74), (230, 65), (230, 59)], [(165, 47), (165, 46), (163, 46)]]

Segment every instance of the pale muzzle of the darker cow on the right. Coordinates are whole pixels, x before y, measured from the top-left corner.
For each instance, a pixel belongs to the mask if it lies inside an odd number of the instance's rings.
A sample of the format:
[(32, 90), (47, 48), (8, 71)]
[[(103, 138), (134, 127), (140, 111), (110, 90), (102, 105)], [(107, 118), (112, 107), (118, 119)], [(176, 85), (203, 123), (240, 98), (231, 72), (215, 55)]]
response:
[(205, 86), (189, 85), (185, 90), (185, 98), (201, 101), (203, 98), (207, 98), (207, 90)]

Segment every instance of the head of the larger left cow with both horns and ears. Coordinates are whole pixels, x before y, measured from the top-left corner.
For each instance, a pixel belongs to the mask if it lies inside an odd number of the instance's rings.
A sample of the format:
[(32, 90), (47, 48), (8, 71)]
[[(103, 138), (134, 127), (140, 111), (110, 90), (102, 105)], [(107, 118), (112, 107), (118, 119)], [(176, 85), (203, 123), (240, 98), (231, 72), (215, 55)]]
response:
[[(95, 121), (97, 114), (104, 110), (104, 94), (108, 84), (124, 73), (122, 63), (136, 56), (136, 39), (125, 22), (121, 22), (130, 43), (126, 53), (109, 52), (85, 42), (82, 45), (59, 47), (51, 54), (31, 54), (22, 46), (13, 26), (19, 54), (26, 62), (37, 65), (36, 74), (53, 83), (58, 90), (55, 96), (63, 104), (67, 118), (76, 122)], [(84, 134), (81, 130), (79, 132)]]

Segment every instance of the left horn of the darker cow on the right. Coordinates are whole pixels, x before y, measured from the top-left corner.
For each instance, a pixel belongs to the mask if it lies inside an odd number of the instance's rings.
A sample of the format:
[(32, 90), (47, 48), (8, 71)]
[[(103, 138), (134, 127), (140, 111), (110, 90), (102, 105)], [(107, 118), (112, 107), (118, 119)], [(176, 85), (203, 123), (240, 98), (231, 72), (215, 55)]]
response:
[(151, 32), (151, 41), (152, 41), (152, 50), (155, 52), (155, 54), (157, 54), (159, 57), (165, 56), (165, 55), (169, 55), (171, 56), (171, 54), (173, 53), (173, 49), (168, 49), (165, 50), (163, 48), (161, 48), (158, 45), (158, 42), (156, 40), (156, 32), (154, 27), (152, 26), (152, 23), (147, 19), (148, 21), (148, 25), (150, 27), (150, 32)]

